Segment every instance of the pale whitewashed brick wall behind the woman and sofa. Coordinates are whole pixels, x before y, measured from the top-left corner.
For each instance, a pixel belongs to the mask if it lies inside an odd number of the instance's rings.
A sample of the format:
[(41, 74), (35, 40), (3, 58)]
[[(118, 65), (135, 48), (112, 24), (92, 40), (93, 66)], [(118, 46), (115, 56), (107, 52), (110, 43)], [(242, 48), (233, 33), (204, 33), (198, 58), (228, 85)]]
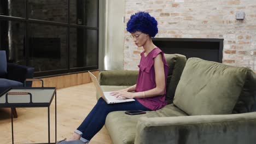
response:
[[(223, 63), (256, 70), (256, 0), (126, 0), (125, 22), (147, 11), (158, 20), (156, 38), (223, 38)], [(237, 11), (244, 20), (236, 20)], [(136, 70), (142, 47), (125, 32), (124, 69)]]

